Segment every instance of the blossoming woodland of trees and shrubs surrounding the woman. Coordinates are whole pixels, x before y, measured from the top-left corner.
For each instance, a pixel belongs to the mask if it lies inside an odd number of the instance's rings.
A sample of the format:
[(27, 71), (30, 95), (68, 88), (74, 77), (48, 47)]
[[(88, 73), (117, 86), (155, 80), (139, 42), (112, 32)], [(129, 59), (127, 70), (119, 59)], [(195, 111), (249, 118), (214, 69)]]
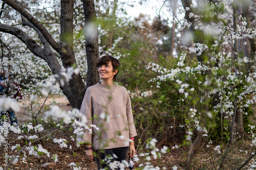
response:
[[(16, 75), (30, 117), (1, 126), (3, 169), (90, 169), (74, 133), (87, 130), (76, 118), (103, 55), (121, 62), (117, 82), (129, 90), (139, 135), (137, 169), (255, 168), (255, 1), (161, 1), (153, 19), (127, 17), (124, 4), (147, 2), (2, 0), (1, 71)], [(73, 110), (39, 102), (56, 95)], [(5, 96), (0, 109), (17, 113), (19, 105)], [(174, 153), (182, 158), (165, 159)]]

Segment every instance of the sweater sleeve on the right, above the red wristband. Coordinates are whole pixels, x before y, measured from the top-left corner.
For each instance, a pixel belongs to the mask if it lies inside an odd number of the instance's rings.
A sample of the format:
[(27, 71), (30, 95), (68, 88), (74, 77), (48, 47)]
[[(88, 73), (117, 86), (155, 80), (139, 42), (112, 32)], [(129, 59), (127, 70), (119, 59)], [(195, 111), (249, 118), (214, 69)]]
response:
[(129, 127), (129, 138), (138, 136), (135, 125), (134, 125), (134, 119), (133, 119), (133, 110), (132, 110), (132, 105), (131, 105), (131, 99), (129, 97), (129, 94), (126, 90), (126, 116), (127, 116), (127, 121), (128, 121), (128, 127)]

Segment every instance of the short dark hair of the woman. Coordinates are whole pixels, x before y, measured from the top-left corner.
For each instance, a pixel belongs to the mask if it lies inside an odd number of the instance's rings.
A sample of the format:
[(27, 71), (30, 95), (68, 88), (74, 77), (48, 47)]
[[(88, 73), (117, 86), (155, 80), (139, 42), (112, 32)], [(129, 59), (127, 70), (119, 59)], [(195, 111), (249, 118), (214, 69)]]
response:
[(118, 61), (118, 59), (114, 58), (113, 56), (106, 55), (106, 56), (103, 56), (99, 59), (96, 66), (99, 67), (101, 65), (104, 65), (107, 62), (111, 62), (112, 66), (113, 66), (113, 72), (115, 70), (117, 70), (117, 73), (114, 75), (114, 78), (113, 78), (113, 80), (115, 81), (116, 80), (116, 75), (118, 74), (118, 69), (119, 69), (119, 67), (121, 67), (121, 64)]

